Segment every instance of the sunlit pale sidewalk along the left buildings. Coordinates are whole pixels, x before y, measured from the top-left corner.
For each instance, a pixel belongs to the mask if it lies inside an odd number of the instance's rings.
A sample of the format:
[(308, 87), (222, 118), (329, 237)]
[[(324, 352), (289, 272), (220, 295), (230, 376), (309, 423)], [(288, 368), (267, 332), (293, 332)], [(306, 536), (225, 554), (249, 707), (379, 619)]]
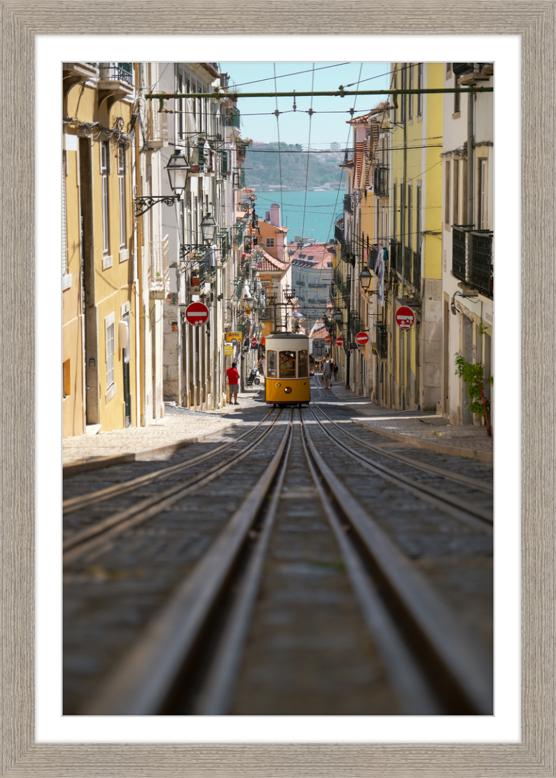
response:
[[(226, 405), (215, 411), (200, 412), (165, 404), (165, 415), (146, 427), (128, 427), (96, 435), (79, 435), (62, 440), (63, 477), (142, 459), (166, 457), (174, 451), (220, 435), (242, 424), (240, 413), (264, 405), (261, 387), (249, 387), (240, 394), (240, 405)], [(235, 417), (235, 418), (234, 418)]]

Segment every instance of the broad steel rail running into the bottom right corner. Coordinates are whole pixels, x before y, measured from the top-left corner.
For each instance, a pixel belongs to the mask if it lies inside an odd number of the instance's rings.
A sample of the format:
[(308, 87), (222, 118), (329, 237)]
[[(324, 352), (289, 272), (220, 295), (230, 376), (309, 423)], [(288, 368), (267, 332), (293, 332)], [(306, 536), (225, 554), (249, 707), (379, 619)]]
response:
[(338, 509), (353, 527), (371, 555), (390, 596), (421, 643), (428, 667), (441, 676), (446, 699), (457, 699), (468, 714), (491, 715), (493, 678), (491, 662), (460, 625), (450, 608), (427, 580), (393, 545), (376, 521), (351, 495), (316, 450), (309, 433), (306, 440), (320, 475), (327, 482)]

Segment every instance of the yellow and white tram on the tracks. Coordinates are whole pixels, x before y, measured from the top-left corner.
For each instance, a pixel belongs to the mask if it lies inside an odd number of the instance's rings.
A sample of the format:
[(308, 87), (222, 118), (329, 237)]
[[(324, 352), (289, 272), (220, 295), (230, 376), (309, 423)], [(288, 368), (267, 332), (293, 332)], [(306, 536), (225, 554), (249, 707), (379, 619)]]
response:
[(309, 338), (273, 332), (265, 338), (264, 400), (268, 405), (309, 403)]

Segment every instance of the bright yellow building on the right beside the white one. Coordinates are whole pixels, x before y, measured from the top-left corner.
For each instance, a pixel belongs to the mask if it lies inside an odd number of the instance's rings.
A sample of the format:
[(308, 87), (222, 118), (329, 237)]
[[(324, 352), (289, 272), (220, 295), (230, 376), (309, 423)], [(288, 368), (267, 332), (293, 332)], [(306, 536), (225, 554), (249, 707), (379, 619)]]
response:
[[(395, 62), (393, 89), (442, 89), (444, 65)], [(390, 119), (391, 303), (386, 404), (435, 411), (442, 377), (442, 94), (397, 95)], [(414, 312), (401, 331), (398, 307)]]

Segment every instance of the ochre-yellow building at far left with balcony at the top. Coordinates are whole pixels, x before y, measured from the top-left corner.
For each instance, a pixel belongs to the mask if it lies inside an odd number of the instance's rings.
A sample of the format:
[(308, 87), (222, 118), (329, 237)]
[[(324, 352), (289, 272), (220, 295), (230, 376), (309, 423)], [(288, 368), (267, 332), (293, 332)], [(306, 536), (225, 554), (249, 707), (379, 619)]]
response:
[(132, 81), (131, 63), (63, 66), (64, 436), (137, 424)]

